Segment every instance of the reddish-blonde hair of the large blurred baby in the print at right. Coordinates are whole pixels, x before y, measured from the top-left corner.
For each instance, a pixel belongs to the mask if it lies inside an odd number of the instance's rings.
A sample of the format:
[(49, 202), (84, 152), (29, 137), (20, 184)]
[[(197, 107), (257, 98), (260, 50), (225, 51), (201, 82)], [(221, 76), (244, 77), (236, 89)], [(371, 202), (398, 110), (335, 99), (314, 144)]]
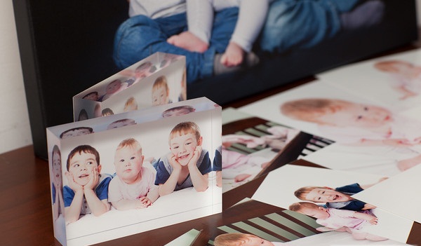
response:
[(326, 98), (305, 98), (285, 102), (281, 105), (281, 113), (301, 121), (320, 123), (320, 118), (342, 109), (347, 101)]

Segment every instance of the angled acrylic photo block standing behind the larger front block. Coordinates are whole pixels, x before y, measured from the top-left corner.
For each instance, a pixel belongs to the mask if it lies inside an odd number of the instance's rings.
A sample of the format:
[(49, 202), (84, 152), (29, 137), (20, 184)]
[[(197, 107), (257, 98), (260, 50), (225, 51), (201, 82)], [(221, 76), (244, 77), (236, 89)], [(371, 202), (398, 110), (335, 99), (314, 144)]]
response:
[(186, 95), (185, 56), (154, 53), (73, 97), (74, 121), (180, 102)]

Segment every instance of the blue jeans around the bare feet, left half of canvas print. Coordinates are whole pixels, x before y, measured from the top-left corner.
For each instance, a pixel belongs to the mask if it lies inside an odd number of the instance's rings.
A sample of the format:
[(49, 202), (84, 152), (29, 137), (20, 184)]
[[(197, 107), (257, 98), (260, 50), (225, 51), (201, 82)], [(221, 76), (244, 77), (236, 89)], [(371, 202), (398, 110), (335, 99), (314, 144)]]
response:
[(185, 55), (187, 83), (213, 75), (215, 53), (224, 53), (236, 25), (238, 8), (215, 13), (212, 37), (205, 53), (190, 52), (166, 42), (174, 34), (187, 30), (185, 13), (152, 20), (136, 15), (123, 22), (114, 38), (114, 62), (124, 69), (156, 52)]

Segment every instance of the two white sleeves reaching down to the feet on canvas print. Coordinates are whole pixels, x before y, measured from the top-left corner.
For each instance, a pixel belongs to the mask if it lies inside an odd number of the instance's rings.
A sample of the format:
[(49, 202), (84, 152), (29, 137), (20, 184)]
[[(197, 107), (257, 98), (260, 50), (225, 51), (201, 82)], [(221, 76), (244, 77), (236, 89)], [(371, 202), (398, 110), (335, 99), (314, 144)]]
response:
[(209, 43), (213, 11), (239, 7), (239, 19), (236, 22), (231, 42), (250, 52), (255, 39), (265, 22), (269, 3), (272, 0), (187, 0), (187, 23), (189, 32)]

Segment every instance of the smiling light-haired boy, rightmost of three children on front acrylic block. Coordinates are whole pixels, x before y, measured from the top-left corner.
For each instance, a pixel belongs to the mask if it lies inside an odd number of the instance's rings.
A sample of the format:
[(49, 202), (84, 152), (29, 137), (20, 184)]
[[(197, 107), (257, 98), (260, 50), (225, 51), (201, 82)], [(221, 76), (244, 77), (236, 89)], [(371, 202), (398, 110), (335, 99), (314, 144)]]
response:
[(208, 189), (208, 172), (212, 171), (209, 153), (202, 149), (203, 137), (194, 122), (175, 125), (169, 136), (171, 153), (158, 160), (156, 181), (159, 195), (193, 186)]

